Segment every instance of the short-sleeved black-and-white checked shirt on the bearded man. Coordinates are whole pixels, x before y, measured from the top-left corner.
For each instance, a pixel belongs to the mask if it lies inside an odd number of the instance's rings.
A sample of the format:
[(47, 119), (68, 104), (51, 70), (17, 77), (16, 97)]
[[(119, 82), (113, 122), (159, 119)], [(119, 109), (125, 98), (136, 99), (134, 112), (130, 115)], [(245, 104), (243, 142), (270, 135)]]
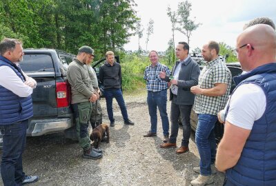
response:
[(215, 83), (226, 83), (226, 94), (222, 96), (204, 96), (196, 94), (193, 110), (197, 114), (217, 115), (217, 112), (224, 109), (231, 87), (231, 72), (219, 58), (206, 63), (199, 75), (199, 87), (208, 89), (215, 87)]

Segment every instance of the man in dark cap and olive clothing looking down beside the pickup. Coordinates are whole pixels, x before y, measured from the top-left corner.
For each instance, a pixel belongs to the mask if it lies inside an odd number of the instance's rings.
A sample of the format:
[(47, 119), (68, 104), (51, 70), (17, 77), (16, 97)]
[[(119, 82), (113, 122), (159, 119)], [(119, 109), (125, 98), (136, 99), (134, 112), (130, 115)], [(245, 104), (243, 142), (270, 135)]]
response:
[(102, 151), (90, 145), (88, 123), (92, 112), (92, 103), (98, 97), (92, 87), (86, 64), (94, 59), (94, 50), (89, 46), (79, 48), (77, 58), (68, 66), (68, 81), (71, 85), (72, 108), (77, 125), (79, 145), (83, 148), (83, 158), (97, 159), (103, 155)]

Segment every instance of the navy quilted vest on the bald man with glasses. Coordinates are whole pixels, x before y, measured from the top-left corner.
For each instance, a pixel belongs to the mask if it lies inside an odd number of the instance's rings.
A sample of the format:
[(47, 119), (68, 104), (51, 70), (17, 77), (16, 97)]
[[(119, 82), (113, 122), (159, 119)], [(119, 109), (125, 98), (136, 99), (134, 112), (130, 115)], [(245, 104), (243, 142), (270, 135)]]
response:
[[(254, 122), (237, 165), (226, 171), (233, 185), (276, 185), (276, 63), (235, 76), (239, 85), (255, 83), (266, 94), (264, 115)], [(237, 88), (236, 87), (236, 88)], [(235, 92), (235, 90), (234, 90)]]

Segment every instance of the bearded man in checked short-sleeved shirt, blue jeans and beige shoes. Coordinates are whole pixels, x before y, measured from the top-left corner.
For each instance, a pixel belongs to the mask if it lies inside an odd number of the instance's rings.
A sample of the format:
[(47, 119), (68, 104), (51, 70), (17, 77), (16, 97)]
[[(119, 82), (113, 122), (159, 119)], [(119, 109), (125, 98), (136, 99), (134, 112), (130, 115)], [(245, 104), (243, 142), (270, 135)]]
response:
[(199, 150), (200, 167), (194, 167), (199, 176), (191, 181), (192, 185), (213, 183), (215, 174), (215, 123), (217, 112), (226, 105), (231, 85), (231, 73), (226, 64), (219, 59), (219, 44), (209, 41), (202, 48), (206, 66), (199, 76), (199, 84), (190, 88), (195, 96), (193, 110), (198, 114), (195, 142)]

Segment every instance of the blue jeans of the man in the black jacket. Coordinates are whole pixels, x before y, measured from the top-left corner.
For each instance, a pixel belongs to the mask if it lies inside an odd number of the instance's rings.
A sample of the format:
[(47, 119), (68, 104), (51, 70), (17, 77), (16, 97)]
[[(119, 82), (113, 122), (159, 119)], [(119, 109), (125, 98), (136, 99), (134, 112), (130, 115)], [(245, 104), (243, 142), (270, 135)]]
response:
[(108, 110), (108, 118), (110, 122), (115, 121), (113, 117), (112, 101), (116, 99), (120, 109), (121, 115), (123, 115), (124, 121), (128, 121), (128, 111), (126, 110), (126, 103), (121, 93), (121, 89), (104, 90), (104, 96), (106, 96), (106, 109)]

